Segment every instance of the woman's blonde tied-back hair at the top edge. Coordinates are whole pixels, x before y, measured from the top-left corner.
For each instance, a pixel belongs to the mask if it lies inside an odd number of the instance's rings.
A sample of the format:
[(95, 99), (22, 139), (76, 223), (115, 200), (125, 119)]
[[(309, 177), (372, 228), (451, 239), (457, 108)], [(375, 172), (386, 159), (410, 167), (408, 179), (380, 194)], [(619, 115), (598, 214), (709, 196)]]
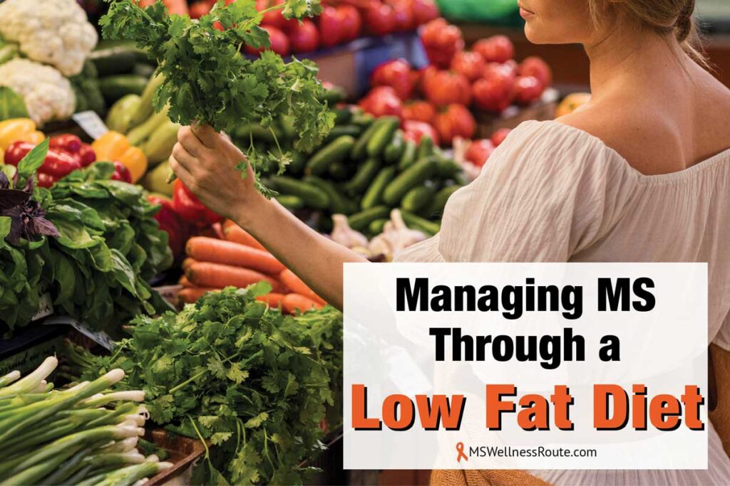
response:
[(694, 17), (695, 0), (588, 0), (593, 25), (599, 25), (602, 7), (619, 9), (659, 34), (674, 36), (696, 63), (709, 68)]

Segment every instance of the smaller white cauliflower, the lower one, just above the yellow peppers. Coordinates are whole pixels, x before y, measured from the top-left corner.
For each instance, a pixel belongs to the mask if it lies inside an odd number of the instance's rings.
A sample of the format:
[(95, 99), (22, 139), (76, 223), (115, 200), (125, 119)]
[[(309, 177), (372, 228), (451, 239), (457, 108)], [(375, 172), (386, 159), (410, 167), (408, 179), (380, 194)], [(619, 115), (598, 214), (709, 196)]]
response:
[(0, 65), (0, 86), (7, 86), (26, 102), (36, 125), (74, 114), (76, 97), (71, 82), (50, 66), (27, 59)]

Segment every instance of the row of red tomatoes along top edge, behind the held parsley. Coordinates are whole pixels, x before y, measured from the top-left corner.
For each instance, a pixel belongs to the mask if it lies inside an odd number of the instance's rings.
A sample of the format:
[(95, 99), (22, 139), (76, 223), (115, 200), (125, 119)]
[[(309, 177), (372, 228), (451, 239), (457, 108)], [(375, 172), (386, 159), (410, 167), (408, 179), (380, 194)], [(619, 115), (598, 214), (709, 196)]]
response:
[[(192, 4), (190, 15), (199, 18), (215, 5), (216, 0)], [(226, 4), (234, 0), (226, 0)], [(283, 0), (256, 0), (263, 12), (282, 4)], [(323, 1), (324, 9), (316, 20), (286, 20), (282, 11), (264, 13), (261, 26), (271, 39), (271, 49), (279, 55), (313, 52), (352, 42), (361, 35), (384, 36), (412, 31), (439, 16), (434, 0), (340, 0)], [(247, 48), (249, 54), (259, 51)]]

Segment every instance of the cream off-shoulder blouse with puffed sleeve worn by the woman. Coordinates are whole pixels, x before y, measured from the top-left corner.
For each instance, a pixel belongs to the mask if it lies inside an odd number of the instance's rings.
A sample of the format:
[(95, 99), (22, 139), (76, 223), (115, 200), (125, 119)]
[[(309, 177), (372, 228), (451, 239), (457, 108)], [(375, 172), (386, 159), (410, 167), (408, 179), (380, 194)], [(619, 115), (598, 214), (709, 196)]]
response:
[[(707, 262), (708, 335), (730, 350), (730, 149), (645, 176), (583, 130), (524, 122), (450, 198), (439, 235), (396, 261)], [(712, 427), (709, 463), (707, 471), (531, 472), (555, 485), (730, 485)]]

